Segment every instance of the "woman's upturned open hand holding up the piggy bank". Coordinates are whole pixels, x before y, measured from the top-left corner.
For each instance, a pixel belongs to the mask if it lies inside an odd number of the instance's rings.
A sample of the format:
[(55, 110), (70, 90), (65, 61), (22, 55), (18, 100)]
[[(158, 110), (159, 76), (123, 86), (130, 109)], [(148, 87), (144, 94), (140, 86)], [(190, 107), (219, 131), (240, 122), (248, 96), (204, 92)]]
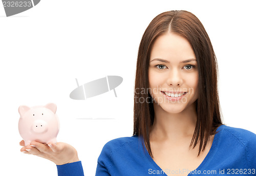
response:
[(26, 154), (36, 155), (41, 158), (48, 159), (56, 165), (73, 163), (79, 161), (76, 149), (63, 142), (42, 144), (36, 141), (25, 146), (24, 140), (19, 142), (23, 146), (20, 151)]

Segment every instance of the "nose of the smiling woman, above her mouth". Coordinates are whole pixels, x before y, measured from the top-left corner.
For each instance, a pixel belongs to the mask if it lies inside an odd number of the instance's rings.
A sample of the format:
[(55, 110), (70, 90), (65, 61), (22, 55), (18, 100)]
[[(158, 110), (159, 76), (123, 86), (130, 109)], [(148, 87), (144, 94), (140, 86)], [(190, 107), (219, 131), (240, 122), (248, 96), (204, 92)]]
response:
[(170, 69), (166, 83), (168, 85), (173, 85), (174, 87), (181, 86), (183, 84), (181, 73), (177, 68)]

